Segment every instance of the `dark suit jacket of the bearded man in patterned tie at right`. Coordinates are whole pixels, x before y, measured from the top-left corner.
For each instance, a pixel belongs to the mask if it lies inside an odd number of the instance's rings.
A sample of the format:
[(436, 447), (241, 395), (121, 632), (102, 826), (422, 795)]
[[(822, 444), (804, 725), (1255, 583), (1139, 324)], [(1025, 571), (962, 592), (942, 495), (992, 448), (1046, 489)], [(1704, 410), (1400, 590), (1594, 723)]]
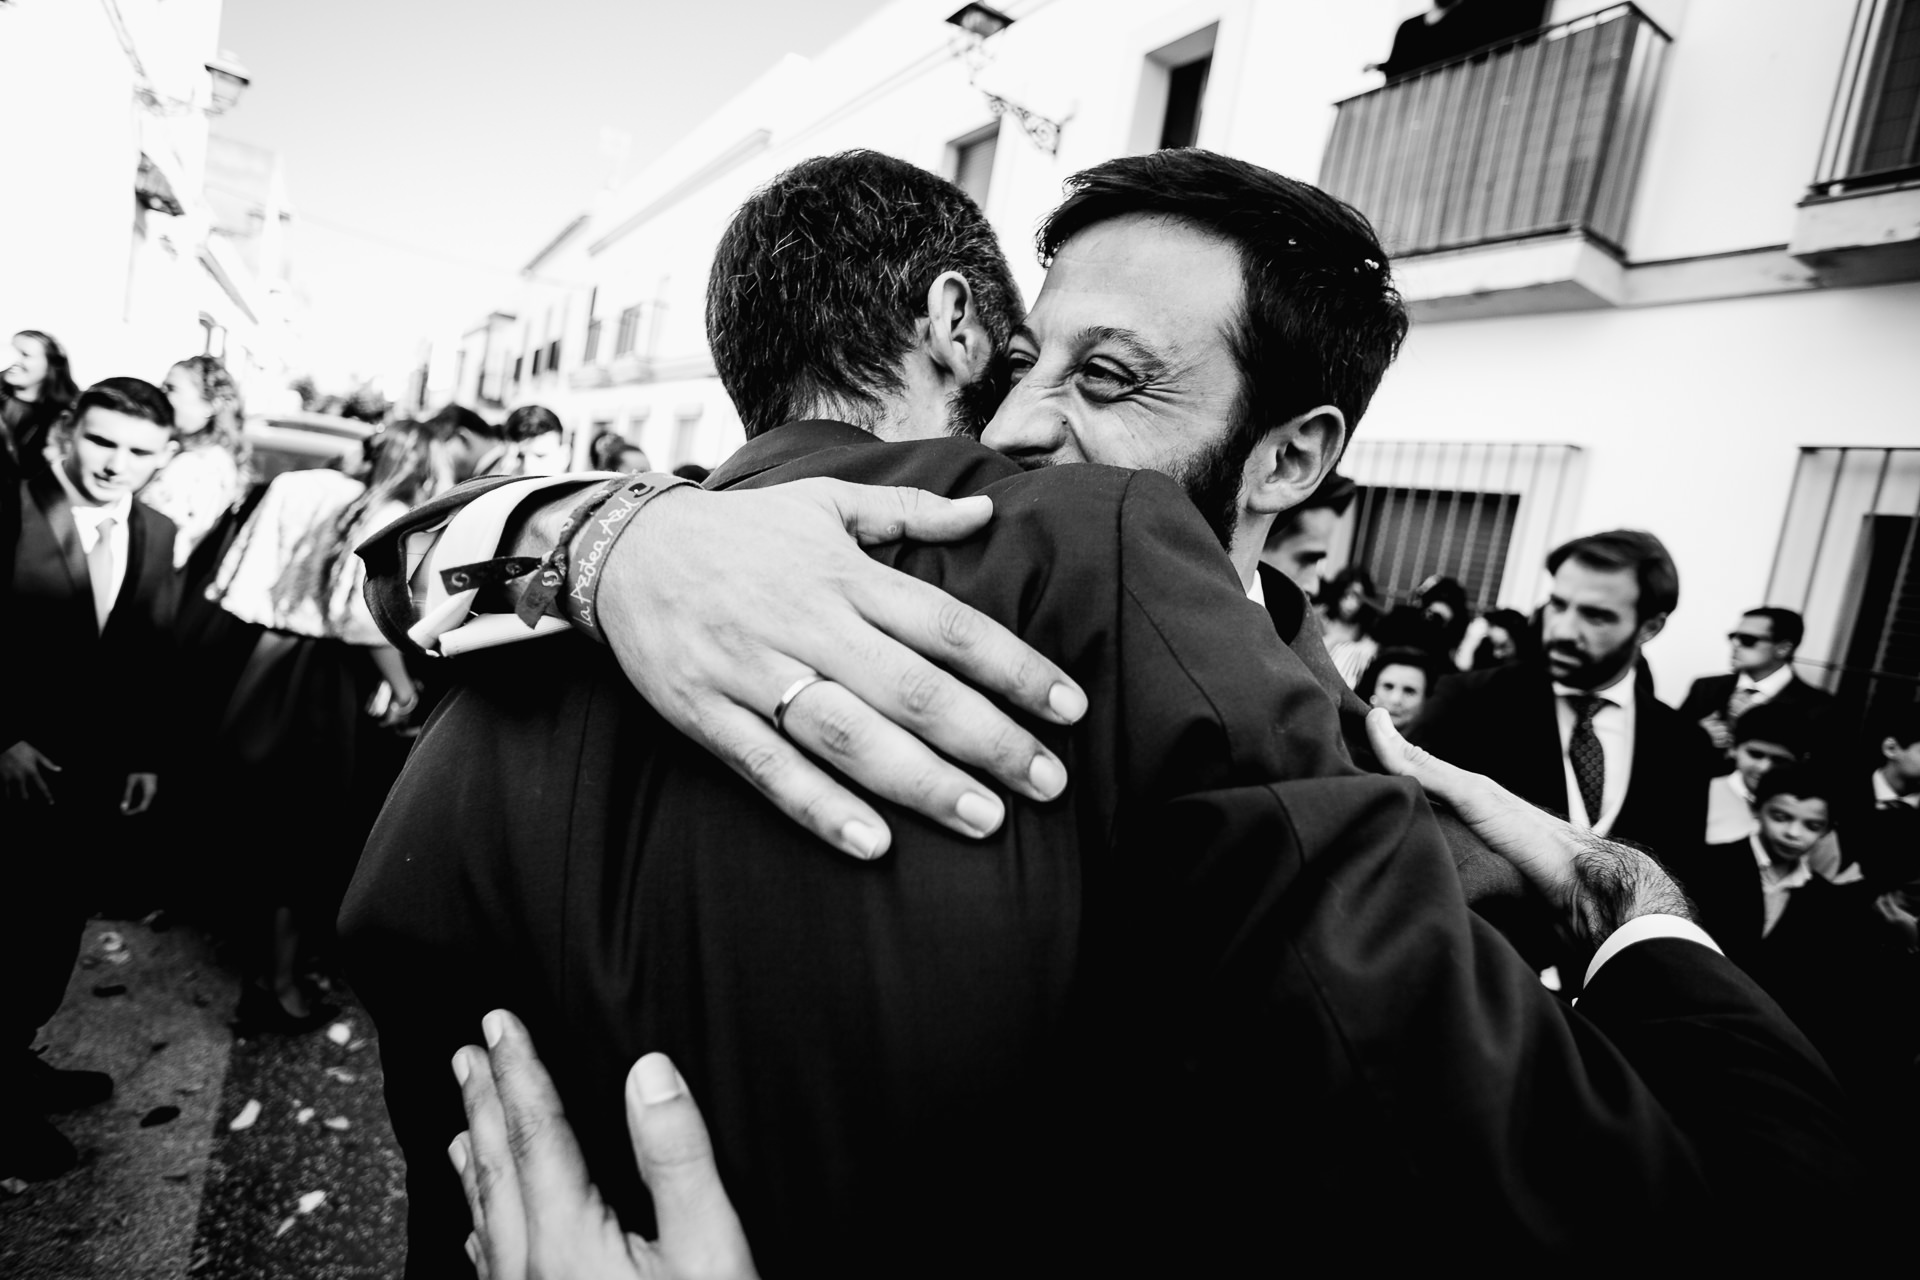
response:
[[(1638, 681), (1634, 699), (1634, 766), (1611, 835), (1668, 858), (1701, 844), (1713, 748), (1697, 723)], [(1448, 676), (1407, 737), (1544, 810), (1567, 814), (1553, 677), (1544, 666), (1511, 664)]]

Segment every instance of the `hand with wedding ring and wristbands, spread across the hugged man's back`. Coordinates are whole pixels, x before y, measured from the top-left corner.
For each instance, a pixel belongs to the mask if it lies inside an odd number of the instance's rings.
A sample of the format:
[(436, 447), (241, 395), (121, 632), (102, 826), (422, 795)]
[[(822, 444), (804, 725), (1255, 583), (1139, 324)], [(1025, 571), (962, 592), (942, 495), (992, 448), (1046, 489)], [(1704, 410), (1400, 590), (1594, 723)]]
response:
[[(945, 827), (987, 835), (1004, 804), (941, 756), (1050, 800), (1066, 770), (987, 695), (1052, 723), (1079, 720), (1087, 697), (1006, 628), (860, 545), (954, 541), (991, 516), (985, 497), (839, 480), (676, 491), (609, 555), (601, 628), (668, 723), (835, 848), (877, 858), (891, 835), (808, 754)], [(826, 679), (793, 697), (787, 741), (770, 718), (810, 674)]]

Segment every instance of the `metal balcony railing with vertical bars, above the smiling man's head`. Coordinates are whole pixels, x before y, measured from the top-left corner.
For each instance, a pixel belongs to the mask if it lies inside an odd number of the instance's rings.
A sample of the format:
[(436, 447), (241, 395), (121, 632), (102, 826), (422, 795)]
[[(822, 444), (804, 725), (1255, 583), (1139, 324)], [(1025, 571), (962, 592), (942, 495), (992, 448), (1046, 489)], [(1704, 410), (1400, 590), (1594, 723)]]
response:
[(1574, 228), (1620, 249), (1668, 42), (1619, 4), (1348, 98), (1321, 186), (1396, 257)]

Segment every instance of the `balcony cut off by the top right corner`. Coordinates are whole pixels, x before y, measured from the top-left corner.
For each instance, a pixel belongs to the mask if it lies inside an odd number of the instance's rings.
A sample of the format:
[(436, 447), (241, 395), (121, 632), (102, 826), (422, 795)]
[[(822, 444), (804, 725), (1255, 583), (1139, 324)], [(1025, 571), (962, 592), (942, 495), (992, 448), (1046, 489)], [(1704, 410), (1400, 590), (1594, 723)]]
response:
[(1920, 278), (1920, 0), (1855, 0), (1788, 251), (1828, 284)]

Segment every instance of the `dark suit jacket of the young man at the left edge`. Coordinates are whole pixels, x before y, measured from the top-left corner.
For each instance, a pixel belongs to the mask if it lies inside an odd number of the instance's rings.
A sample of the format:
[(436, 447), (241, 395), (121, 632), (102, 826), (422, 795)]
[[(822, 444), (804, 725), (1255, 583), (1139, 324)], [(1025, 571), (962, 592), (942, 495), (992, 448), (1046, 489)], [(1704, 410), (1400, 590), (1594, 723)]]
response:
[[(94, 620), (73, 510), (46, 470), (23, 480), (12, 580), (0, 608), (0, 747), (27, 741), (79, 773), (161, 771), (159, 708), (173, 662), (173, 520), (132, 503), (127, 574), (108, 626)], [(75, 777), (61, 777), (77, 785)]]

